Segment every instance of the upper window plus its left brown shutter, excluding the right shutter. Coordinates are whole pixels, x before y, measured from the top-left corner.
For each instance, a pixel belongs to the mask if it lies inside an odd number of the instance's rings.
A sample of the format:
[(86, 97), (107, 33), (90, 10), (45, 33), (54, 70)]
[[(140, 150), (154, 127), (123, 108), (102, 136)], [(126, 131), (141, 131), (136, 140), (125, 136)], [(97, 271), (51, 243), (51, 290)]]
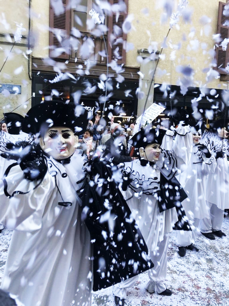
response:
[[(96, 63), (106, 63), (104, 40), (107, 43), (107, 33), (104, 39), (98, 32), (89, 31), (88, 20), (91, 20), (89, 11), (94, 8), (94, 0), (81, 0), (80, 3), (71, 0), (62, 0), (63, 10), (60, 1), (50, 0), (50, 35), (49, 35), (49, 56), (52, 58), (63, 58), (72, 61), (83, 62), (87, 57), (81, 52), (83, 43), (91, 40), (90, 59)], [(55, 9), (58, 8), (58, 11)], [(98, 8), (96, 7), (98, 11)], [(98, 11), (99, 12), (99, 11)], [(101, 13), (101, 12), (99, 12)], [(100, 14), (103, 23), (107, 23), (107, 18)]]

